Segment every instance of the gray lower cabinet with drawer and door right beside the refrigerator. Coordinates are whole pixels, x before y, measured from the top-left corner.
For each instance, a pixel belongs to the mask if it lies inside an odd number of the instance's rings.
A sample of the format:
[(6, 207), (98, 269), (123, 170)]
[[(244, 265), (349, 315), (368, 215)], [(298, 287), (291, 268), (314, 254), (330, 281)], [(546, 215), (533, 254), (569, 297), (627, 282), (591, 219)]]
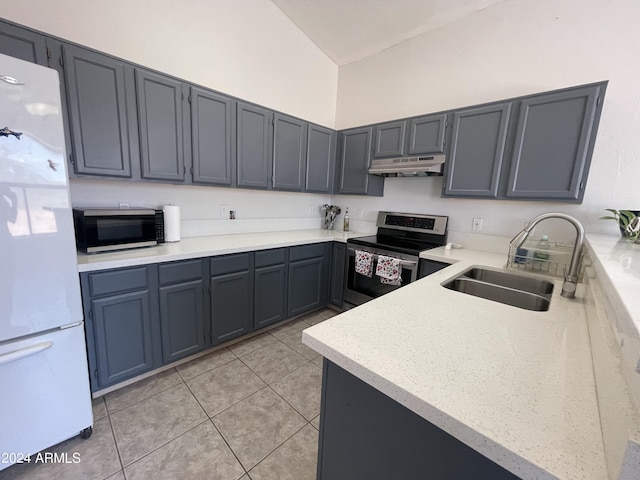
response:
[(161, 365), (155, 266), (81, 274), (91, 390)]

